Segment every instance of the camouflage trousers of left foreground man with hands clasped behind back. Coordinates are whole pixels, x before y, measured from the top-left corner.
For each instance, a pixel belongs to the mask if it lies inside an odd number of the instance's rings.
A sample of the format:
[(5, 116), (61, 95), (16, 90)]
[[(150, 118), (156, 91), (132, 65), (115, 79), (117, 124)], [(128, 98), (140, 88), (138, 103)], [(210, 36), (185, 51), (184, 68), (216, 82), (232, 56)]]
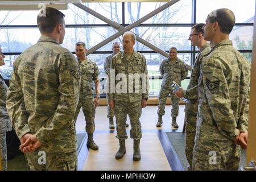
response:
[(25, 154), (30, 171), (77, 171), (77, 152), (47, 154), (45, 159), (40, 150)]

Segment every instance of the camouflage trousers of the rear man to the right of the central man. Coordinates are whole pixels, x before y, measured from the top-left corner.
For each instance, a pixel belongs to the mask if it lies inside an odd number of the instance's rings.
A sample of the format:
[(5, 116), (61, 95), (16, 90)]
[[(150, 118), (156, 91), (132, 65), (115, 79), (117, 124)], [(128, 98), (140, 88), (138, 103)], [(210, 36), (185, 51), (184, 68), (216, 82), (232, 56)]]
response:
[(159, 115), (164, 115), (165, 114), (165, 107), (166, 107), (166, 100), (168, 98), (168, 96), (171, 96), (171, 101), (172, 101), (172, 114), (171, 116), (172, 117), (177, 117), (179, 115), (179, 101), (180, 101), (180, 98), (177, 97), (174, 93), (172, 93), (172, 90), (169, 90), (169, 89), (163, 89), (161, 88), (160, 89), (160, 92), (159, 92), (159, 97), (158, 97), (158, 100), (159, 100), (159, 104), (158, 104), (158, 114)]

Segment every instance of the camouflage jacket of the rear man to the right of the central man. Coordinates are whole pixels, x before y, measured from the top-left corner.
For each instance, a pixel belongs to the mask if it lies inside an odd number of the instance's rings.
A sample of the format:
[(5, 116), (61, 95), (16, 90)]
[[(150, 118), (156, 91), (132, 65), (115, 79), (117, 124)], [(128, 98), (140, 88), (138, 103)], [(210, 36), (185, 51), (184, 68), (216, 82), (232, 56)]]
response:
[(181, 80), (184, 80), (188, 76), (188, 69), (184, 61), (177, 58), (175, 61), (165, 59), (160, 64), (160, 75), (163, 77), (161, 87), (171, 89), (172, 81), (181, 85)]

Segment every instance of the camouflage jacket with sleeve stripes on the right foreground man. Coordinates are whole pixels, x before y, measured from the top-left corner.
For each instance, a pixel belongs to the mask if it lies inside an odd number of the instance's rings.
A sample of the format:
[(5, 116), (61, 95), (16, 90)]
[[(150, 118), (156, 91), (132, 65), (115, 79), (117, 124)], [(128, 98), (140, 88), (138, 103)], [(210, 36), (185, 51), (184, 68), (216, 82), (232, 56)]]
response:
[(233, 140), (236, 128), (247, 131), (249, 84), (250, 64), (232, 41), (214, 46), (200, 67), (197, 133), (216, 127)]

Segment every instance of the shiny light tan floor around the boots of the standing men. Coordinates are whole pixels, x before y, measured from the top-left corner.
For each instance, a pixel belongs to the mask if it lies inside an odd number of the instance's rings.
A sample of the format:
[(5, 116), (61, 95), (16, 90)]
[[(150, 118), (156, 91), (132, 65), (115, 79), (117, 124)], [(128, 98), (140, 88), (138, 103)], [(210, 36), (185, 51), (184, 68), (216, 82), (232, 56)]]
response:
[[(184, 106), (181, 105), (177, 117), (179, 130), (171, 129), (171, 106), (166, 107), (166, 114), (163, 116), (163, 126), (156, 127), (158, 115), (156, 114), (157, 106), (147, 106), (142, 111), (142, 135), (141, 139), (141, 155), (139, 162), (133, 162), (133, 140), (126, 140), (126, 154), (122, 159), (115, 159), (119, 144), (115, 138), (116, 131), (109, 130), (109, 121), (106, 117), (107, 107), (100, 106), (96, 109), (96, 131), (94, 132), (94, 141), (98, 144), (99, 150), (93, 151), (84, 147), (80, 151), (80, 156), (84, 161), (80, 161), (80, 170), (125, 170), (125, 171), (170, 171), (172, 160), (177, 160), (176, 156), (170, 155), (170, 146), (166, 134), (159, 131), (182, 131), (184, 123)], [(127, 118), (129, 123), (129, 117)], [(77, 133), (85, 132), (85, 120), (82, 110), (76, 123)], [(127, 128), (129, 135), (130, 126)], [(181, 166), (179, 162), (174, 162), (176, 166)], [(172, 166), (173, 167), (173, 166)]]

